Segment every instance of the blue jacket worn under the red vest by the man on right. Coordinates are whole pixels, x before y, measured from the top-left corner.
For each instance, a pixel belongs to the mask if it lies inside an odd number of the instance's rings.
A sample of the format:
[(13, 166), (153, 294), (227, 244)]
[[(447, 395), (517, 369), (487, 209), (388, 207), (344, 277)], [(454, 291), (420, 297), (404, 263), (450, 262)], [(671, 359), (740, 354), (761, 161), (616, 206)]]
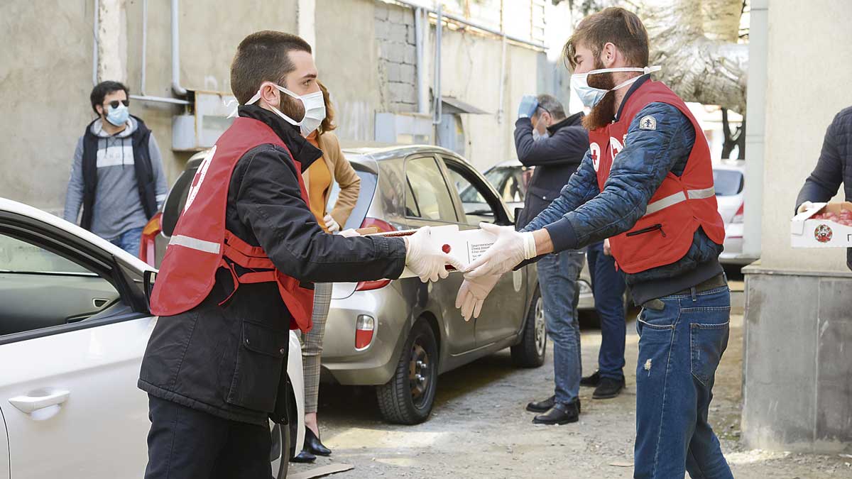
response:
[[(639, 118), (648, 115), (656, 118), (656, 130), (639, 129)], [(560, 196), (524, 231), (547, 228), (555, 250), (564, 251), (630, 230), (645, 214), (648, 200), (666, 174), (671, 171), (682, 175), (694, 142), (691, 122), (676, 107), (665, 103), (648, 104), (630, 123), (625, 148), (614, 159), (603, 191), (597, 186), (591, 156), (586, 152), (579, 170), (562, 188)], [(721, 273), (718, 262), (721, 252), (722, 245), (714, 243), (699, 228), (692, 247), (682, 259), (627, 274), (625, 280), (634, 300), (641, 304), (698, 285)]]

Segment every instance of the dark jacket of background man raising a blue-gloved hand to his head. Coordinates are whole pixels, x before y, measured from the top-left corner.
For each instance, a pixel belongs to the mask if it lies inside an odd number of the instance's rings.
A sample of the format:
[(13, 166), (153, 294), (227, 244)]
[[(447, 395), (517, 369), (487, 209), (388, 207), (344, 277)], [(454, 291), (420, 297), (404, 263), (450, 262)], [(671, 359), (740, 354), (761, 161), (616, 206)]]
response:
[(589, 149), (589, 133), (581, 125), (584, 113), (574, 113), (548, 127), (550, 136), (533, 140), (533, 123), (529, 118), (515, 122), (515, 151), (524, 166), (534, 166), (533, 179), (524, 198), (524, 210), (516, 218), (518, 228), (538, 216), (562, 190), (577, 171)]

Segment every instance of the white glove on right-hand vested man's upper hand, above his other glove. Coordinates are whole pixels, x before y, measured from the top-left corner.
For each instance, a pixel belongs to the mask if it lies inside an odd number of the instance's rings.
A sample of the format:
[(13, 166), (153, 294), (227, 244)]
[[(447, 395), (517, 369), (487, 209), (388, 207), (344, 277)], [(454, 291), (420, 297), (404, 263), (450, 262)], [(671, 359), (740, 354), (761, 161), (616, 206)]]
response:
[(481, 222), (480, 228), (497, 235), (497, 241), (464, 270), (465, 279), (504, 274), (525, 259), (536, 256), (533, 233), (521, 233), (515, 231), (514, 227), (497, 226), (488, 222)]

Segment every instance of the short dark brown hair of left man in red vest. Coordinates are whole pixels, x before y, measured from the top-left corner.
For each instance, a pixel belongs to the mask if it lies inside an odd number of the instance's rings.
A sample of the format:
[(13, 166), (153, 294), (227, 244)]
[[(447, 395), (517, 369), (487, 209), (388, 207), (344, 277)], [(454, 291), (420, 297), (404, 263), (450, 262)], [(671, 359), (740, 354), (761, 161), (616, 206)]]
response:
[(239, 43), (231, 62), (231, 91), (240, 105), (245, 105), (263, 82), (285, 87), (284, 78), (296, 69), (291, 51), (311, 53), (311, 46), (301, 37), (273, 30), (252, 33)]

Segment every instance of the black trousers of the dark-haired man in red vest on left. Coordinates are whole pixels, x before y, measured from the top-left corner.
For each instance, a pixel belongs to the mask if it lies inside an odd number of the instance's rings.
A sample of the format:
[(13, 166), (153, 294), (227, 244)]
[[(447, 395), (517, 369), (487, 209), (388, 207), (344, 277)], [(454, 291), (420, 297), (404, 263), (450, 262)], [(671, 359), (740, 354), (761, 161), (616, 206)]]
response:
[(268, 426), (240, 423), (148, 395), (145, 479), (270, 479)]

